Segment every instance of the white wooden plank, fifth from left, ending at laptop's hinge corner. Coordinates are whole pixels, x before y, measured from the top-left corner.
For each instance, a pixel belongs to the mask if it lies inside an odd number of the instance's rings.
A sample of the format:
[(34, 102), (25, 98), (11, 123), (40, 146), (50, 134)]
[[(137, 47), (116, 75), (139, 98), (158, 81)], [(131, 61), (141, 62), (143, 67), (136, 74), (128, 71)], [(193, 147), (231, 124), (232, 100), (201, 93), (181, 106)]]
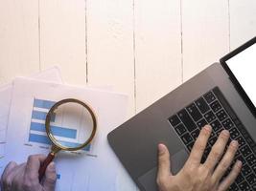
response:
[(182, 0), (184, 80), (228, 53), (228, 26), (227, 1)]

